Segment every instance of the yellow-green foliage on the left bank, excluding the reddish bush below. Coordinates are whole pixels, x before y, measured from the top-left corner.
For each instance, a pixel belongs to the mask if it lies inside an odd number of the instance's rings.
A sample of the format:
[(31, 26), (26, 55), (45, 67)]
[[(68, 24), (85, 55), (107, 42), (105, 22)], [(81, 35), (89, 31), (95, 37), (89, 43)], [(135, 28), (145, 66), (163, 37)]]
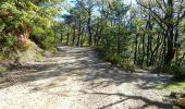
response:
[(0, 40), (3, 41), (3, 46), (13, 46), (17, 41), (15, 37), (21, 35), (29, 37), (27, 29), (29, 27), (32, 34), (39, 37), (37, 41), (42, 44), (44, 48), (52, 48), (54, 45), (53, 17), (61, 9), (54, 5), (61, 1), (0, 1), (0, 32), (2, 31)]

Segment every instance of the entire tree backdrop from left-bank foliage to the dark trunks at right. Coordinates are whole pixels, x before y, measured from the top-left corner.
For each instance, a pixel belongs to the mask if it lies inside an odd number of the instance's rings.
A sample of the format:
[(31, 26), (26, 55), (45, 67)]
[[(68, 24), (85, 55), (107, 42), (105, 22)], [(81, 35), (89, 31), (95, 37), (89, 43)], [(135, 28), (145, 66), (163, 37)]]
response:
[(90, 46), (120, 68), (184, 78), (184, 0), (1, 0), (0, 60), (33, 45)]

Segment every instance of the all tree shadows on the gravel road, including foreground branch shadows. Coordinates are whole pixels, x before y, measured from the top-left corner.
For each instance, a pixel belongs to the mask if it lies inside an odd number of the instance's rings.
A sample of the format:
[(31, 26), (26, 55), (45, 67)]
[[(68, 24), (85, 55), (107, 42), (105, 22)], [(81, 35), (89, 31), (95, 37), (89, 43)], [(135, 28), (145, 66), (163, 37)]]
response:
[[(96, 87), (107, 87), (109, 85), (122, 85), (123, 83), (135, 83), (140, 89), (153, 88), (158, 84), (165, 84), (170, 81), (170, 76), (149, 73), (132, 73), (120, 71), (109, 62), (103, 62), (98, 55), (90, 48), (75, 47), (59, 47), (60, 52), (54, 57), (47, 58), (44, 62), (36, 62), (18, 68), (13, 68), (5, 76), (0, 77), (0, 88), (5, 88), (14, 84), (24, 84), (39, 80), (59, 77), (50, 84), (35, 86), (33, 90), (49, 89), (59, 87), (59, 83), (65, 81), (69, 76), (76, 76), (76, 81), (82, 81), (87, 84), (88, 89)], [(96, 82), (97, 80), (103, 80)], [(140, 82), (141, 81), (141, 82)], [(4, 84), (4, 83), (8, 84)], [(137, 84), (138, 83), (138, 84)], [(4, 84), (4, 85), (3, 85)], [(155, 105), (158, 108), (171, 109), (168, 104), (152, 101), (141, 96), (130, 96), (125, 94), (107, 94), (107, 93), (87, 93), (91, 95), (122, 96), (124, 99), (103, 106), (101, 109), (123, 102), (127, 99), (143, 100), (144, 109), (149, 105)], [(63, 95), (66, 96), (66, 95)]]

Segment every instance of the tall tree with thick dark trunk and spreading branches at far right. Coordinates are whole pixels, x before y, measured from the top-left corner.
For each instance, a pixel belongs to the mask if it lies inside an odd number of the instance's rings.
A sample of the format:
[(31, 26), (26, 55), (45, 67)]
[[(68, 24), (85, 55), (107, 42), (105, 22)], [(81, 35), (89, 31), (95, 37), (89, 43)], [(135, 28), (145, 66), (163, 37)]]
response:
[(184, 0), (137, 0), (137, 3), (151, 12), (152, 17), (158, 22), (166, 43), (166, 53), (164, 51), (164, 65), (170, 65), (174, 58), (174, 48), (178, 35), (178, 24), (185, 17)]

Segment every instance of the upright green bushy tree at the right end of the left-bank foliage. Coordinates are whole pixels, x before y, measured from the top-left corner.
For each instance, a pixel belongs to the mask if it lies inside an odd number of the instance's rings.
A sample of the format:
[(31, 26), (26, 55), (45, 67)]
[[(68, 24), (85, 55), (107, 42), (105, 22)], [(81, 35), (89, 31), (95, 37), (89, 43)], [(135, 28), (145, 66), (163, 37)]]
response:
[(53, 27), (55, 22), (53, 16), (58, 14), (60, 8), (45, 4), (39, 8), (39, 14), (35, 17), (32, 35), (36, 36), (36, 44), (44, 49), (52, 49), (55, 45), (55, 34)]

